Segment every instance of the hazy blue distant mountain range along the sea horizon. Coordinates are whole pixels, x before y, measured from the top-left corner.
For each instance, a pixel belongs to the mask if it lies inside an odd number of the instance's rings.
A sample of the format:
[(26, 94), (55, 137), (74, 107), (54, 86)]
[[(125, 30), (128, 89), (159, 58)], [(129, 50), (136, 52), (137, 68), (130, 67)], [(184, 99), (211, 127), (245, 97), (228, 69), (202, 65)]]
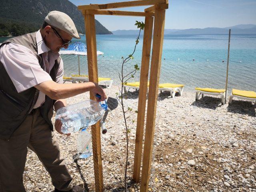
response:
[[(256, 25), (254, 24), (240, 24), (225, 28), (208, 27), (203, 29), (165, 29), (164, 34), (228, 34), (229, 29), (231, 29), (232, 34), (256, 34)], [(138, 34), (138, 32), (139, 30), (112, 31), (115, 35), (134, 35)]]

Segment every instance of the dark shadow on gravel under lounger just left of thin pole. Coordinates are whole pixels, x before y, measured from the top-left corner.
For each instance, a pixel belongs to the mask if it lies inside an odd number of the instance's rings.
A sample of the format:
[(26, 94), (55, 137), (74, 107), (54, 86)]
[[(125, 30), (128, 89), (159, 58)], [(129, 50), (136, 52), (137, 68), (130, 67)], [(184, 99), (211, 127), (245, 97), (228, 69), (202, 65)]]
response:
[(222, 106), (221, 98), (204, 96), (204, 98), (194, 101), (191, 106), (216, 110), (217, 107)]

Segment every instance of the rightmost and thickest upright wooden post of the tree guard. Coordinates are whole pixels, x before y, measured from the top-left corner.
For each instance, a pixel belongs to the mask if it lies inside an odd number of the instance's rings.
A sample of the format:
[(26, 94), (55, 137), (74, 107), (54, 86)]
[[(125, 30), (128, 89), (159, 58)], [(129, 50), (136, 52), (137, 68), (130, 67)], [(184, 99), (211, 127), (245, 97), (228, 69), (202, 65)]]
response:
[(152, 145), (156, 120), (156, 103), (161, 68), (162, 47), (164, 39), (165, 10), (156, 10), (154, 17), (153, 50), (150, 68), (150, 81), (148, 90), (148, 108), (146, 120), (146, 133), (143, 152), (142, 176), (140, 191), (148, 191), (150, 168), (152, 160)]

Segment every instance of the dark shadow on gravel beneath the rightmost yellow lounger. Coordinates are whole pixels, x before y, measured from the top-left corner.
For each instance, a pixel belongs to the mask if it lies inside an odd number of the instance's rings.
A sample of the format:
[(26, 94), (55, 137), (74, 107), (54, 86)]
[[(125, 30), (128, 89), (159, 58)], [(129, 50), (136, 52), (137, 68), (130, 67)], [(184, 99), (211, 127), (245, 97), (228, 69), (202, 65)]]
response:
[(228, 104), (228, 112), (252, 117), (256, 116), (255, 108), (256, 106), (250, 101), (232, 100), (232, 104)]

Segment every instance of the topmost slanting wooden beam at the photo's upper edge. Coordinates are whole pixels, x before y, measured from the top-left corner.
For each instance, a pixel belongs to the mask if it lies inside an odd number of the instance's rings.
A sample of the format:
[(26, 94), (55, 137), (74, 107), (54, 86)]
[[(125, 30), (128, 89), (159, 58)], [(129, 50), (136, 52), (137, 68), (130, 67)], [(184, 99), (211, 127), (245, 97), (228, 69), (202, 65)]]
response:
[(100, 10), (100, 9), (122, 8), (122, 7), (147, 6), (147, 5), (155, 5), (158, 3), (168, 3), (168, 0), (137, 0), (137, 1), (108, 3), (108, 4), (78, 5), (78, 10), (88, 10), (88, 9)]

